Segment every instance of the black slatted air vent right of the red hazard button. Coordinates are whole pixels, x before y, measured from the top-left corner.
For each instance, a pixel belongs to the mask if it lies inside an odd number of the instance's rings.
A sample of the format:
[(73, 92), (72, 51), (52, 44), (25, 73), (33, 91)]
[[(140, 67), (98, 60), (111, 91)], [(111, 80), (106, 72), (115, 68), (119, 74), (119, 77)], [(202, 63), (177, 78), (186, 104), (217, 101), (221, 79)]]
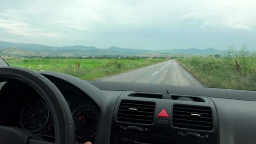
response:
[(211, 108), (174, 105), (172, 125), (179, 128), (211, 131), (213, 129)]

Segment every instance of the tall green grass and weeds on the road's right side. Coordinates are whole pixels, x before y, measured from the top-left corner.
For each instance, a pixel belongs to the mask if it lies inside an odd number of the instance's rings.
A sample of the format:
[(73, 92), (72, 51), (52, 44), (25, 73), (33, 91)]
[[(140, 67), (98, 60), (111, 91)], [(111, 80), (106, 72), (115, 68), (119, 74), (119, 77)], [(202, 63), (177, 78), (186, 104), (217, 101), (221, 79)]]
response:
[(240, 50), (228, 48), (219, 55), (177, 58), (206, 87), (256, 91), (256, 52), (244, 44)]

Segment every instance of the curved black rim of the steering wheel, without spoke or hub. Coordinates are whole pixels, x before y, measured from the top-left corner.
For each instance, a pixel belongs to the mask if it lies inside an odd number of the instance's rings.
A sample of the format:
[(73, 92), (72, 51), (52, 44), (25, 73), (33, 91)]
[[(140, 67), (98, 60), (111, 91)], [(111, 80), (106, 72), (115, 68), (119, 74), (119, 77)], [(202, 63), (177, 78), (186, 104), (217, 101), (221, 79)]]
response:
[(64, 96), (53, 83), (38, 72), (19, 67), (0, 67), (0, 82), (10, 80), (29, 84), (46, 102), (55, 126), (55, 144), (75, 144), (72, 113)]

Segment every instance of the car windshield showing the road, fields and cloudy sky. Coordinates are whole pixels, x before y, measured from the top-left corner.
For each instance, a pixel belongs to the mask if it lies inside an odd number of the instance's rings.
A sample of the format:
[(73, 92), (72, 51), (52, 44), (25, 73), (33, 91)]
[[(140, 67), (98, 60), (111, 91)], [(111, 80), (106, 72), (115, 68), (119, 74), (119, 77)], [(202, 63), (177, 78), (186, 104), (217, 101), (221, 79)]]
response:
[(83, 80), (256, 91), (255, 5), (0, 0), (0, 56)]

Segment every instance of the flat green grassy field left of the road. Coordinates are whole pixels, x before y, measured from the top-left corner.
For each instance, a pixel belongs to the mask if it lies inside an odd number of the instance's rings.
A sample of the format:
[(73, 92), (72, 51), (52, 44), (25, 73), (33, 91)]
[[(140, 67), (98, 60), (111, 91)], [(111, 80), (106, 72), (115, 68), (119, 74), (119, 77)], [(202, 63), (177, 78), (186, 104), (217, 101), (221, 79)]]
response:
[(153, 65), (168, 59), (129, 60), (129, 59), (11, 59), (11, 66), (33, 71), (53, 71), (73, 75), (83, 80), (96, 80), (102, 77), (131, 71)]

